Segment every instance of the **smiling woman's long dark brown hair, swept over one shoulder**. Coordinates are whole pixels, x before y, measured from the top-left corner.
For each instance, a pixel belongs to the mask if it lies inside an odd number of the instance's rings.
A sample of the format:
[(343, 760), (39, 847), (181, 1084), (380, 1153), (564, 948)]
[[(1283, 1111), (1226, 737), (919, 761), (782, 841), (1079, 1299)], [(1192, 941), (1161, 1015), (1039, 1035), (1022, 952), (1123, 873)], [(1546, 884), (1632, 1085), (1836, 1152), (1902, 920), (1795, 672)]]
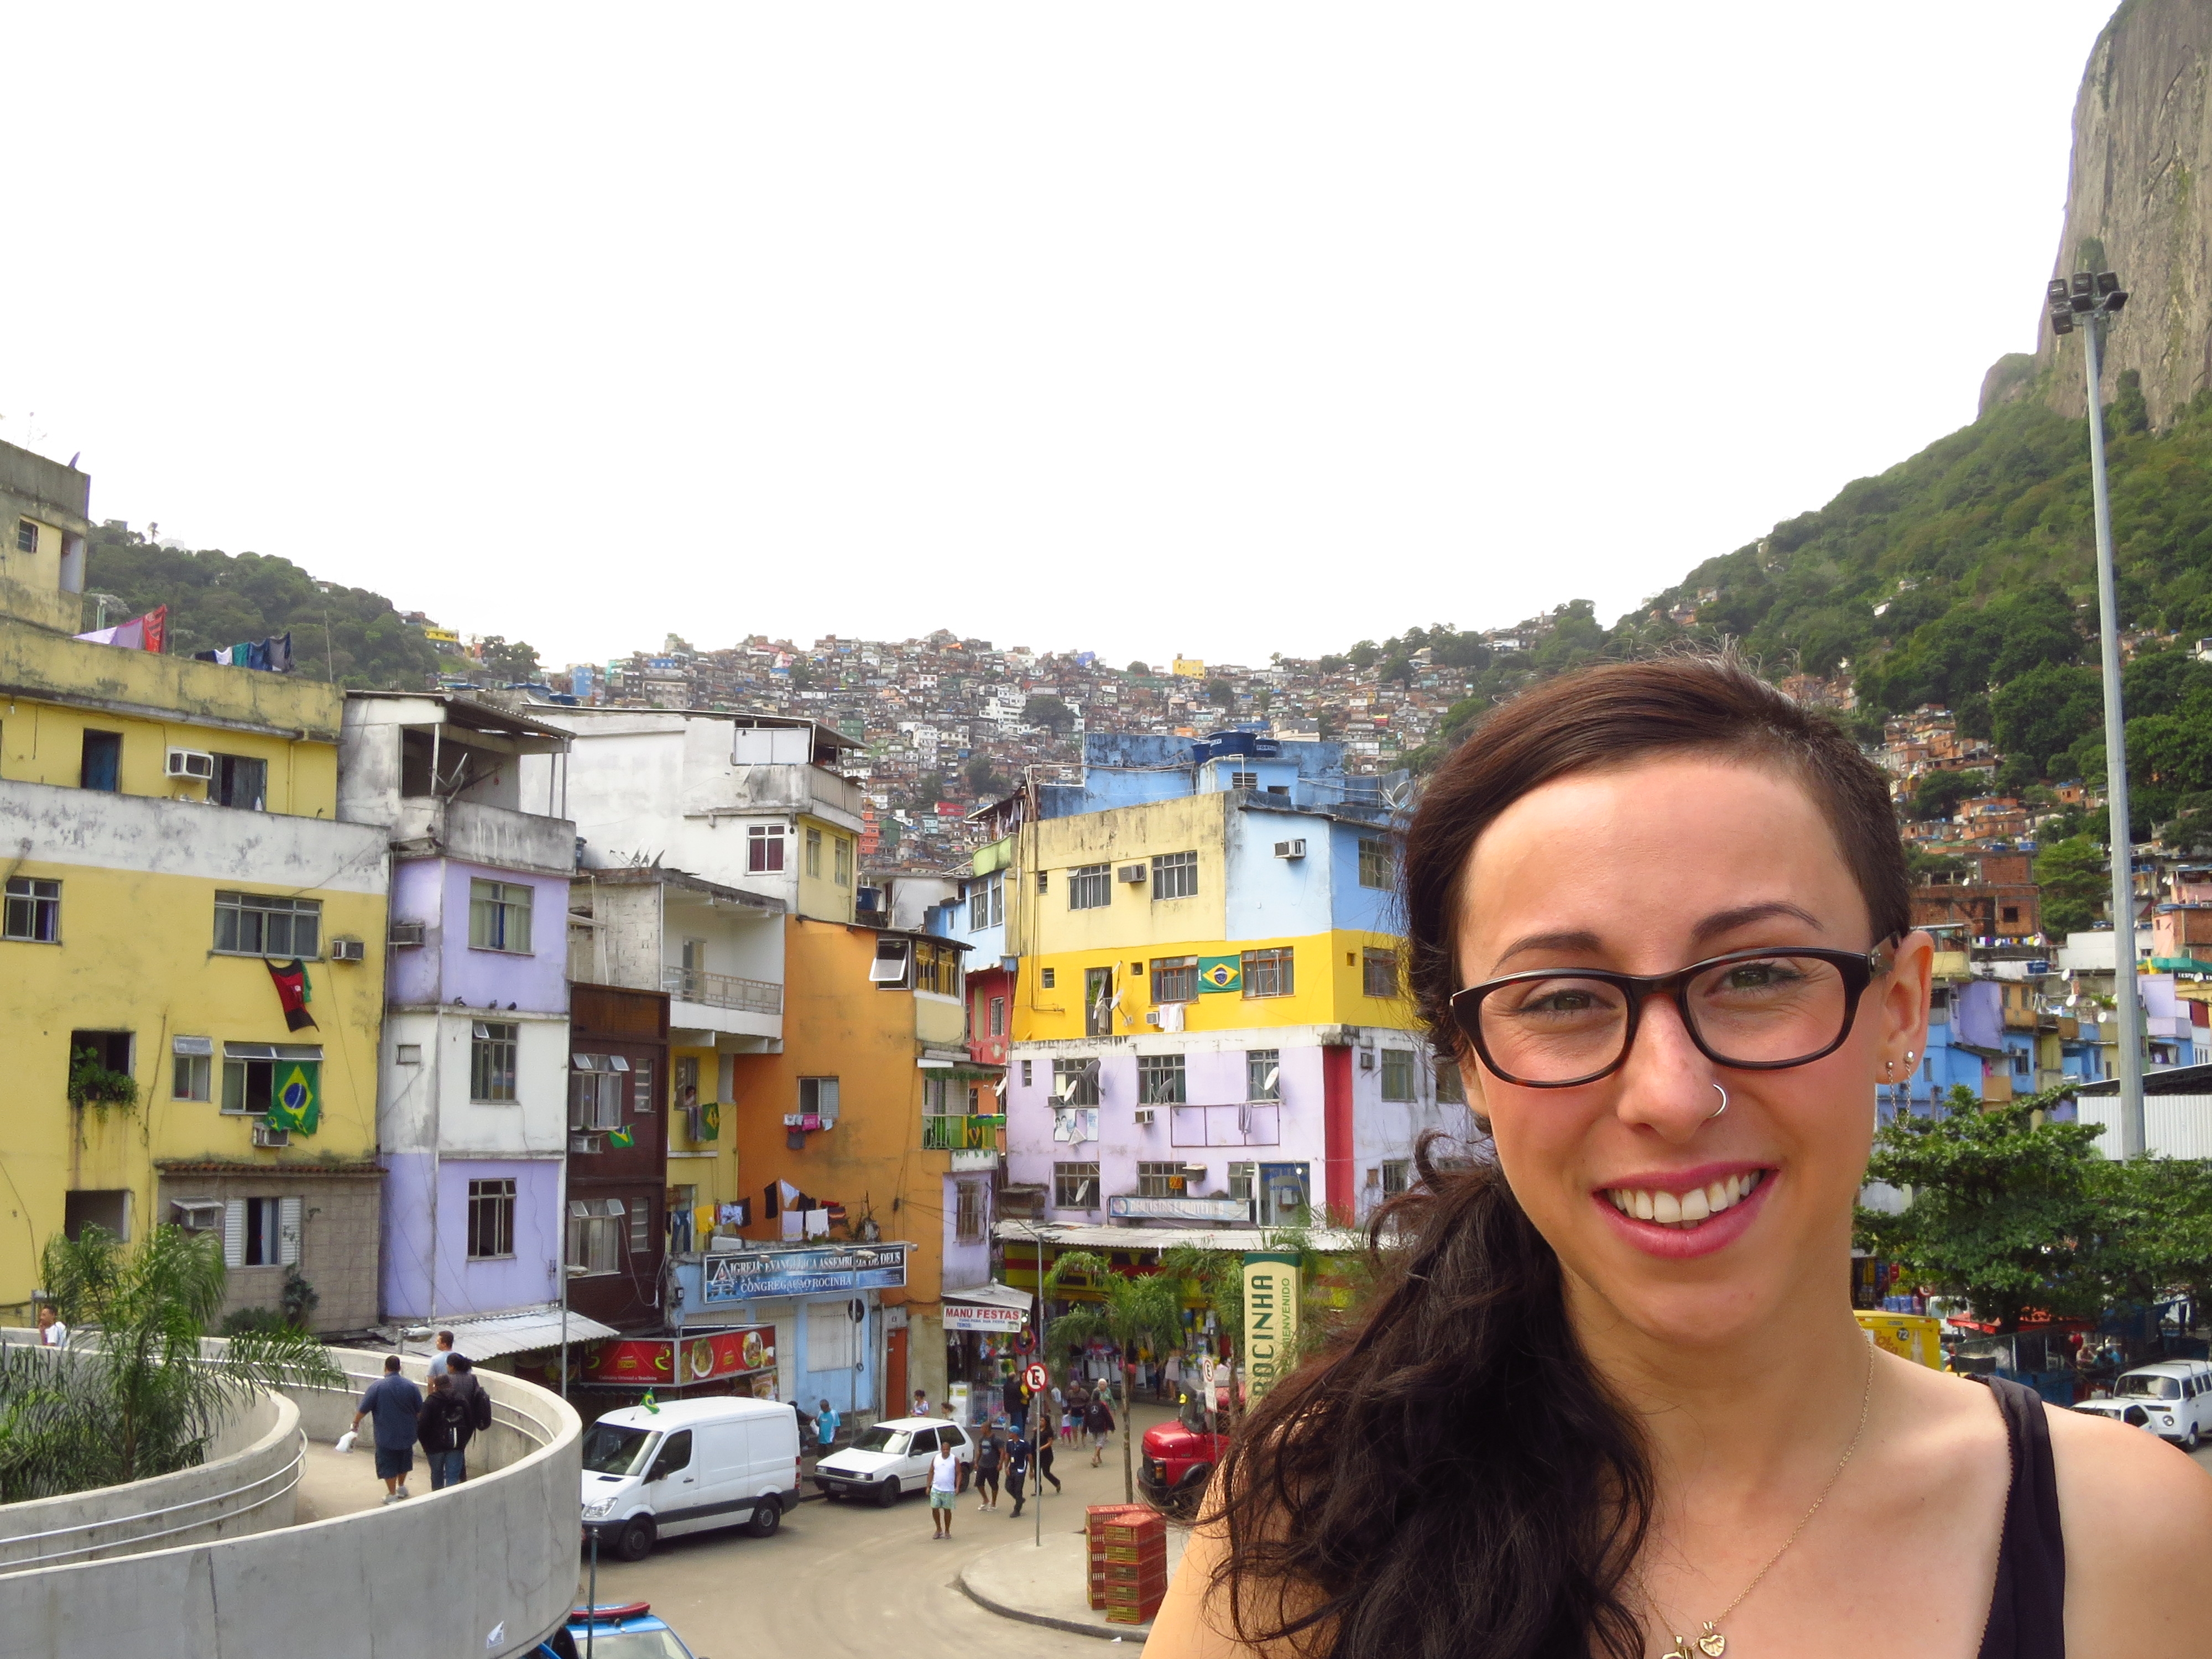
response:
[[(1725, 659), (1564, 675), (1475, 728), (1402, 838), (1407, 980), (1440, 1055), (1462, 1053), (1447, 1004), (1475, 838), (1544, 783), (1683, 752), (1794, 774), (1874, 940), (1909, 931), (1887, 783), (1834, 723)], [(1584, 1358), (1559, 1259), (1495, 1161), (1444, 1168), (1433, 1141), (1416, 1148), (1413, 1190), (1369, 1223), (1374, 1296), (1221, 1460), (1206, 1513), (1228, 1544), (1214, 1586), (1243, 1641), (1338, 1659), (1632, 1659), (1644, 1632), (1626, 1579), (1652, 1511), (1644, 1433)]]

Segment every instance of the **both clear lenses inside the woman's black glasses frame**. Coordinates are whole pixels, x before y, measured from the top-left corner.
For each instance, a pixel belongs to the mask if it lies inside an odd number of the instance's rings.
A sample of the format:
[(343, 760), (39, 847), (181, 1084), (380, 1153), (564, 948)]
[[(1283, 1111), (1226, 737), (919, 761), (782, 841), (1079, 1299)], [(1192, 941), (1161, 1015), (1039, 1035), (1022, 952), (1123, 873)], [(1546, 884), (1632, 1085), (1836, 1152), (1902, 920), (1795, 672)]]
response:
[[(1814, 956), (1723, 962), (1688, 984), (1690, 1024), (1721, 1062), (1772, 1066), (1829, 1048), (1849, 1015), (1843, 971)], [(1630, 993), (1555, 973), (1500, 984), (1475, 1009), (1491, 1066), (1524, 1082), (1610, 1068), (1628, 1046)]]

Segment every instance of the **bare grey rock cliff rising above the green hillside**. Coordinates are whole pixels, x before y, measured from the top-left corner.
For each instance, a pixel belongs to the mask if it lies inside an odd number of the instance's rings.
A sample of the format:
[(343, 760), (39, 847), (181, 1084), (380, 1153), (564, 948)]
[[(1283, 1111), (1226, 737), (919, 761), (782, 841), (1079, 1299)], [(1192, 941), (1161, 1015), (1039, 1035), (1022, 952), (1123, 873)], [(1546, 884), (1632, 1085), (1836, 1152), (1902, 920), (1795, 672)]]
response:
[[(2106, 345), (2104, 396), (2143, 376), (2150, 418), (2212, 387), (2212, 4), (2126, 0), (2097, 38), (2075, 100), (2066, 232), (2053, 274), (2115, 270), (2128, 310)], [(2081, 338), (2042, 325), (2037, 367), (2059, 414), (2084, 414)], [(2004, 363), (1997, 365), (2004, 369)], [(1991, 372), (2000, 380), (1997, 369)], [(1984, 398), (2026, 389), (2017, 369)]]

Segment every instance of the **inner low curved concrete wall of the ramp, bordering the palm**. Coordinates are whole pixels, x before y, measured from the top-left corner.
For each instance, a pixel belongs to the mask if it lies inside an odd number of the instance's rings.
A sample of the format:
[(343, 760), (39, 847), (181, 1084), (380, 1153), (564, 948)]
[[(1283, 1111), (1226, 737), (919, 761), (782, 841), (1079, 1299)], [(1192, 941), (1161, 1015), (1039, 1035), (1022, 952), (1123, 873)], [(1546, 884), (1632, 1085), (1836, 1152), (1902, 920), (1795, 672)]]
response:
[[(0, 1338), (33, 1345), (38, 1332), (9, 1329)], [(84, 1363), (84, 1356), (58, 1354), (55, 1360)], [(259, 1394), (223, 1427), (197, 1469), (0, 1506), (0, 1573), (290, 1526), (301, 1455), (299, 1407), (281, 1394)]]

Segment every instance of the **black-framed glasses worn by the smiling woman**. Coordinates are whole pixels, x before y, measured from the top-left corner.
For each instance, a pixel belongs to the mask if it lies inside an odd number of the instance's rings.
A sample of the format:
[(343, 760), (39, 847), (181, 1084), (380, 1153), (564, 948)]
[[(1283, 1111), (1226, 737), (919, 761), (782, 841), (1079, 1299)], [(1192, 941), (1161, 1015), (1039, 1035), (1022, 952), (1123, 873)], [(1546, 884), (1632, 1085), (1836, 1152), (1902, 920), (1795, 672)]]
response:
[(1887, 967), (1876, 945), (1730, 951), (1674, 973), (1533, 969), (1453, 993), (1451, 1018), (1482, 1064), (1522, 1088), (1573, 1088), (1619, 1071), (1655, 995), (1672, 995), (1690, 1042), (1717, 1066), (1783, 1071), (1836, 1053), (1860, 993)]

